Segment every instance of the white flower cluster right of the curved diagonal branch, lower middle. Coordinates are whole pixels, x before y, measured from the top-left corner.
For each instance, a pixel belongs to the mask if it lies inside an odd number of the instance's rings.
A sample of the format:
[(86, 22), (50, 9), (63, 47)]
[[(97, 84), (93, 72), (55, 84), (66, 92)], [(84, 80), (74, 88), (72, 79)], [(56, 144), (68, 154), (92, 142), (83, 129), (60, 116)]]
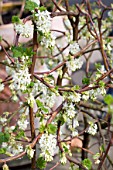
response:
[(67, 115), (68, 118), (72, 119), (75, 117), (75, 115), (77, 114), (77, 111), (75, 109), (75, 105), (71, 102), (71, 103), (67, 103), (65, 102), (63, 104), (63, 110), (64, 110), (64, 114)]

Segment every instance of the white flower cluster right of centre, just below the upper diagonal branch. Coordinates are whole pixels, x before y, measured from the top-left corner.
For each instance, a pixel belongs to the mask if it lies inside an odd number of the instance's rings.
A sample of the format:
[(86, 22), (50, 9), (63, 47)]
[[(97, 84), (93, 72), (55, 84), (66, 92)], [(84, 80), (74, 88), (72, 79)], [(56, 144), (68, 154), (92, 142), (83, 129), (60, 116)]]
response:
[(70, 71), (76, 71), (80, 69), (83, 65), (83, 61), (80, 60), (80, 58), (75, 58), (72, 57), (71, 60), (66, 62), (66, 66)]

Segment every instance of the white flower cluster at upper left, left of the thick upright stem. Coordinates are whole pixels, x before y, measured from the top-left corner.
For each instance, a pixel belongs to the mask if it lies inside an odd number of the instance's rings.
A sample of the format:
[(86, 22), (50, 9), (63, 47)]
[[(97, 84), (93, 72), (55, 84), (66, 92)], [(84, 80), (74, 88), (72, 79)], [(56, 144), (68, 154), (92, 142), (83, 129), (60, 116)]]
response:
[(23, 23), (19, 23), (19, 24), (14, 24), (14, 30), (16, 31), (17, 34), (21, 34), (22, 36), (29, 38), (31, 36), (32, 33), (32, 26), (30, 26), (29, 24), (23, 24)]

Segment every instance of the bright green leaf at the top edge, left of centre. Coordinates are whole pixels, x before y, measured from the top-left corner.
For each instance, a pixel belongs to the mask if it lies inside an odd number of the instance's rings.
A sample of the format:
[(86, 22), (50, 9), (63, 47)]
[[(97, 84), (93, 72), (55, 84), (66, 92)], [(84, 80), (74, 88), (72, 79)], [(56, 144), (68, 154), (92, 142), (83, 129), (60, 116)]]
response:
[(38, 7), (38, 4), (32, 1), (26, 1), (25, 10), (32, 11)]

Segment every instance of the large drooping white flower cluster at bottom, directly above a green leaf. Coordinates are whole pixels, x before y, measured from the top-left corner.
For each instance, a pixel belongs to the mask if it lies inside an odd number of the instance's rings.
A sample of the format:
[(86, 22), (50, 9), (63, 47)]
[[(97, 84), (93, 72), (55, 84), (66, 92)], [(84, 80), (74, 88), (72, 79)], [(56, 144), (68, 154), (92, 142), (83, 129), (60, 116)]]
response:
[(50, 162), (53, 160), (55, 149), (57, 145), (56, 136), (52, 134), (43, 134), (39, 140), (41, 156), (45, 158), (45, 161)]

